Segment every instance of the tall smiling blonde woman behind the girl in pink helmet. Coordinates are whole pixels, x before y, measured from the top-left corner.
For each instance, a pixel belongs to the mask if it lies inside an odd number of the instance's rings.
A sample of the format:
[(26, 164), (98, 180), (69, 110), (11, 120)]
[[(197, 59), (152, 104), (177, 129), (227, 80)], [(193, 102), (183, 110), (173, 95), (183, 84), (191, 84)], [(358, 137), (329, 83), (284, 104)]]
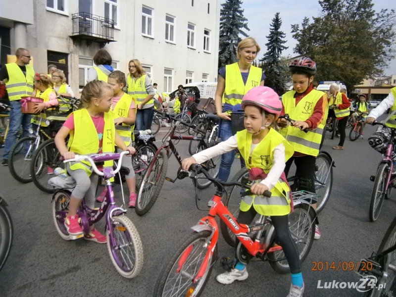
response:
[[(252, 37), (247, 37), (238, 44), (238, 62), (226, 65), (219, 70), (218, 82), (215, 94), (217, 116), (221, 118), (220, 139), (226, 141), (232, 134), (230, 113), (233, 109), (241, 109), (242, 98), (248, 90), (256, 86), (264, 86), (265, 74), (261, 68), (254, 67), (251, 63), (260, 51), (260, 46)], [(224, 107), (223, 107), (224, 97)], [(235, 151), (229, 151), (221, 156), (219, 166), (219, 179), (227, 181)], [(241, 160), (241, 167), (245, 167), (245, 161)], [(211, 206), (213, 200), (207, 205)]]

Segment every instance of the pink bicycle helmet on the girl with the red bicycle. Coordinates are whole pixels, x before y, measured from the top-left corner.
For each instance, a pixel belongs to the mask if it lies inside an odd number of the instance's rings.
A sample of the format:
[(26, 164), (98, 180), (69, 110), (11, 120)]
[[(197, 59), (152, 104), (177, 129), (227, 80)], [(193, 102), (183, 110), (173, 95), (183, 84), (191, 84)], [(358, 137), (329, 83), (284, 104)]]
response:
[(275, 120), (278, 119), (282, 111), (282, 101), (279, 100), (278, 94), (268, 87), (258, 86), (250, 89), (242, 99), (242, 109), (246, 105), (254, 105), (264, 109), (269, 113), (275, 114)]

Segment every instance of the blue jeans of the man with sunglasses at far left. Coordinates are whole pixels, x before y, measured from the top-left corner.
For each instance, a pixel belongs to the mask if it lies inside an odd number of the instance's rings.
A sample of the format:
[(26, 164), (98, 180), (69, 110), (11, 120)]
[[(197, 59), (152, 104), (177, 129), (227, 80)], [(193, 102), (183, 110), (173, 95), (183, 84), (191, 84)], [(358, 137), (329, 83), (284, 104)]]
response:
[(21, 125), (23, 129), (22, 137), (29, 136), (29, 129), (32, 128), (32, 116), (30, 114), (23, 114), (21, 112), (21, 102), (15, 100), (10, 101), (9, 104), (13, 107), (13, 109), (11, 109), (9, 112), (9, 128), (4, 144), (3, 159), (8, 159), (8, 153), (16, 142), (16, 136)]

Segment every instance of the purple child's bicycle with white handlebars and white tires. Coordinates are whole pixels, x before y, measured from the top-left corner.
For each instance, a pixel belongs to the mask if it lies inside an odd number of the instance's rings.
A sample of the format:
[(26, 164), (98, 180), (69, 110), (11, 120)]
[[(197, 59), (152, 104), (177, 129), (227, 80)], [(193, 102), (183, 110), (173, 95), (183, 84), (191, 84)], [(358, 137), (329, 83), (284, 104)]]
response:
[[(143, 245), (138, 230), (132, 221), (124, 215), (127, 211), (115, 204), (114, 192), (111, 186), (110, 178), (114, 177), (121, 168), (121, 160), (128, 151), (121, 153), (97, 154), (93, 156), (76, 155), (70, 161), (89, 161), (93, 170), (102, 176), (106, 181), (107, 194), (99, 208), (89, 208), (83, 199), (78, 209), (78, 215), (81, 218), (81, 227), (84, 233), (89, 232), (90, 226), (97, 223), (104, 215), (106, 217), (106, 237), (107, 249), (115, 269), (125, 278), (136, 277), (143, 267)], [(117, 168), (104, 168), (102, 172), (98, 170), (95, 162), (107, 160), (117, 160)], [(73, 240), (83, 237), (71, 236), (64, 225), (66, 215), (69, 210), (70, 192), (59, 190), (52, 196), (52, 213), (56, 231), (64, 240)]]

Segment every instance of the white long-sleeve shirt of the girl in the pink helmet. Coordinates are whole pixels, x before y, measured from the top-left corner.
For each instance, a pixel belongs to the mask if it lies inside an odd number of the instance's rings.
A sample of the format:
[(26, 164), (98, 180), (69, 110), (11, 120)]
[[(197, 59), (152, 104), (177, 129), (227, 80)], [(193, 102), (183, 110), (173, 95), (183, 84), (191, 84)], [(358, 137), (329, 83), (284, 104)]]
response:
[[(257, 145), (258, 144), (251, 144), (250, 155)], [(193, 157), (196, 159), (197, 163), (203, 163), (215, 156), (218, 156), (235, 148), (238, 148), (238, 141), (236, 135), (231, 136), (228, 140), (221, 142), (214, 147), (206, 148), (205, 150), (196, 153)], [(274, 150), (272, 168), (268, 172), (267, 177), (261, 181), (261, 184), (266, 185), (268, 187), (268, 190), (271, 191), (281, 177), (281, 174), (285, 170), (285, 166), (285, 146), (281, 143)]]

